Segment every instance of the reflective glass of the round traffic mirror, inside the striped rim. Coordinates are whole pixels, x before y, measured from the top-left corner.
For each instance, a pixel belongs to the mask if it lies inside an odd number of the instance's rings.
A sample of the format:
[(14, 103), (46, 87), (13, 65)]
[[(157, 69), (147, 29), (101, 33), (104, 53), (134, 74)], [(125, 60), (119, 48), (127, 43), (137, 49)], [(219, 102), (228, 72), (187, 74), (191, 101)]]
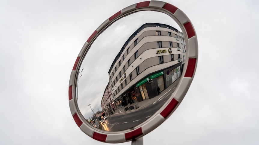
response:
[(122, 131), (150, 119), (180, 80), (186, 45), (168, 15), (140, 11), (101, 33), (84, 56), (77, 103), (89, 125)]

